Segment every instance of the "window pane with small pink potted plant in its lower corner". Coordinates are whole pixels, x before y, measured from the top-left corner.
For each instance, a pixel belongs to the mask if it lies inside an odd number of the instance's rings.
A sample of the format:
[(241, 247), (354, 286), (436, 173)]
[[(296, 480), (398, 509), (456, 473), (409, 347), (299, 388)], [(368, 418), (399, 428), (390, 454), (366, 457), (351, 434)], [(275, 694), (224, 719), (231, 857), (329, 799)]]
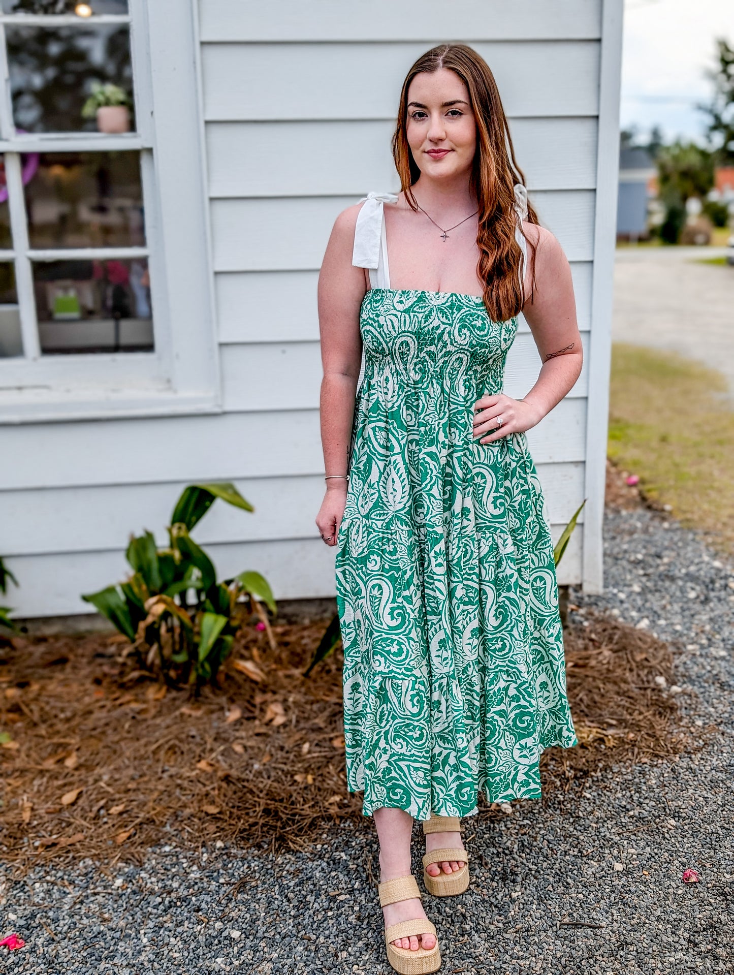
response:
[[(117, 128), (110, 130), (109, 113), (86, 118), (82, 109), (97, 84), (115, 85), (132, 100), (128, 27), (9, 25), (5, 33), (13, 117), (20, 131), (120, 131), (120, 111), (113, 113)], [(132, 109), (123, 115), (128, 129), (134, 128)]]

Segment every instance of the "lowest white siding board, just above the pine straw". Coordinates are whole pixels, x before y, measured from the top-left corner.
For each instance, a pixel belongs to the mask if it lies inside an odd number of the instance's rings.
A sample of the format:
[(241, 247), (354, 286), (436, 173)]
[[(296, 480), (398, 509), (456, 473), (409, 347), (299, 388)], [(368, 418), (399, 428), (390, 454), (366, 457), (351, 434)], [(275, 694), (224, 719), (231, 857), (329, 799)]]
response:
[[(554, 540), (558, 540), (561, 531), (562, 526), (553, 526)], [(579, 576), (583, 534), (584, 527), (579, 526), (563, 556), (561, 585)], [(212, 545), (210, 554), (219, 578), (249, 568), (262, 572), (273, 587), (276, 600), (334, 595), (334, 552), (318, 537)], [(20, 556), (9, 559), (8, 566), (22, 582), (10, 600), (19, 617), (88, 613), (91, 606), (83, 602), (81, 594), (97, 592), (125, 578), (129, 571), (122, 549)]]

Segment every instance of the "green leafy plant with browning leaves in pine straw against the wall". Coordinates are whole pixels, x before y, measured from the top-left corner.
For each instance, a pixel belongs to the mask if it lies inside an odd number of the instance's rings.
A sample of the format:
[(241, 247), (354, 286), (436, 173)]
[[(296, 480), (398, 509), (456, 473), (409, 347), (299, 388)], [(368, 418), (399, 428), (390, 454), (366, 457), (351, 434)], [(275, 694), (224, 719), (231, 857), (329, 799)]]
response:
[(215, 680), (251, 614), (262, 621), (272, 643), (263, 604), (277, 611), (259, 572), (217, 582), (212, 560), (191, 537), (217, 498), (254, 510), (232, 484), (189, 485), (174, 507), (168, 547), (159, 548), (150, 531), (132, 535), (126, 553), (132, 575), (82, 597), (128, 638), (141, 666), (157, 665), (166, 683), (187, 683), (195, 693)]

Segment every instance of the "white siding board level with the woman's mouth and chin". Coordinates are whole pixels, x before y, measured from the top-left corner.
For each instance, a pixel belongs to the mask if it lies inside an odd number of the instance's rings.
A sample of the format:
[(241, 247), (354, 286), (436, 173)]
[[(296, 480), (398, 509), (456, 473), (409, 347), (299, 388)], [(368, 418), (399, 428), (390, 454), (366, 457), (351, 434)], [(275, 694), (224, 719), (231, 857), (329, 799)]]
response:
[[(359, 197), (369, 189), (395, 192), (400, 181), (390, 150), (394, 128), (390, 120), (212, 122), (207, 126), (210, 195)], [(511, 130), (531, 191), (594, 189), (595, 118), (513, 119)]]

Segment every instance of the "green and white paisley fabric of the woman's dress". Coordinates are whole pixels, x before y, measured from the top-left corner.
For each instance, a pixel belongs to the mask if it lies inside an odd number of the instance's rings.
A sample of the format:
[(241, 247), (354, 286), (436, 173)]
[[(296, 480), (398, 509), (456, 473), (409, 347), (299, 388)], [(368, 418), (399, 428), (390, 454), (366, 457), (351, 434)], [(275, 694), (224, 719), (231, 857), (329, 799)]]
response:
[(553, 544), (524, 434), (472, 436), (517, 319), (482, 299), (367, 292), (365, 372), (336, 544), (350, 791), (364, 812), (466, 816), (540, 796), (576, 744)]

